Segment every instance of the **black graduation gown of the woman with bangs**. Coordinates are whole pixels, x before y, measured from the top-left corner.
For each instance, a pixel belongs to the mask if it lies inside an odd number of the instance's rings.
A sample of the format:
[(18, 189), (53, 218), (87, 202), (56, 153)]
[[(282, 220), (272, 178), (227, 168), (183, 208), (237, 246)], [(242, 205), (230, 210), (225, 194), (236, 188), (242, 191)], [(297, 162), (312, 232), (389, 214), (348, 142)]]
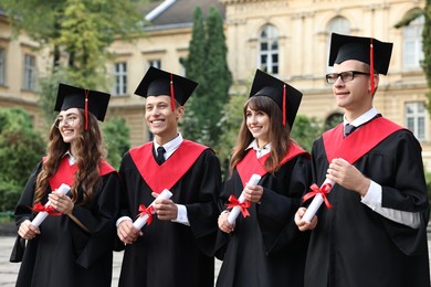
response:
[[(259, 184), (261, 204), (252, 203), (245, 219), (240, 213), (233, 233), (219, 231), (217, 256), (223, 263), (217, 286), (303, 286), (309, 234), (298, 231), (294, 215), (309, 190), (309, 158), (296, 156), (275, 173), (263, 176)], [(231, 194), (239, 198), (242, 190), (235, 169), (224, 183), (222, 203)]]

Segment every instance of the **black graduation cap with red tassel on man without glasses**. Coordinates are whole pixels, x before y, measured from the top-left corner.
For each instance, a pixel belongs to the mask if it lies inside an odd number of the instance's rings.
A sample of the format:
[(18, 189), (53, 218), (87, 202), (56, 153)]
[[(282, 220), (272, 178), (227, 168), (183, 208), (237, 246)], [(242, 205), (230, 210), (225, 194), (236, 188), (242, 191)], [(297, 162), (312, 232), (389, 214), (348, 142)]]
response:
[(175, 99), (183, 106), (197, 86), (198, 83), (191, 79), (150, 66), (136, 88), (135, 94), (141, 97), (170, 96), (174, 111)]

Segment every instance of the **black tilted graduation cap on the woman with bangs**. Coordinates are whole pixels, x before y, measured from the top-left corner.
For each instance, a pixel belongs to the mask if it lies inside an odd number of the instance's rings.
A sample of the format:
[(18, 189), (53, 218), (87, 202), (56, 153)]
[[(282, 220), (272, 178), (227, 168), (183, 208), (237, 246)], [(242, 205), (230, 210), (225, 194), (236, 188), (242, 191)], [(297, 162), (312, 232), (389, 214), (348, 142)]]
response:
[(283, 111), (283, 126), (286, 125), (287, 118), (292, 129), (303, 97), (299, 91), (257, 68), (250, 92), (250, 97), (253, 96), (266, 96), (273, 99)]

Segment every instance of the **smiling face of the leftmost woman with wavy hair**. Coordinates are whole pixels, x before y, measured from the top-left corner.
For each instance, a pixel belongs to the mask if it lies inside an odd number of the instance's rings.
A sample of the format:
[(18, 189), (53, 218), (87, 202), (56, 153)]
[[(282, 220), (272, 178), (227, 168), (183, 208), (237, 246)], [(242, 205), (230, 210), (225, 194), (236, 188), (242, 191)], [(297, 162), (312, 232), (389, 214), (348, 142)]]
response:
[(83, 119), (77, 108), (70, 108), (59, 113), (56, 126), (64, 142), (71, 144), (82, 131)]

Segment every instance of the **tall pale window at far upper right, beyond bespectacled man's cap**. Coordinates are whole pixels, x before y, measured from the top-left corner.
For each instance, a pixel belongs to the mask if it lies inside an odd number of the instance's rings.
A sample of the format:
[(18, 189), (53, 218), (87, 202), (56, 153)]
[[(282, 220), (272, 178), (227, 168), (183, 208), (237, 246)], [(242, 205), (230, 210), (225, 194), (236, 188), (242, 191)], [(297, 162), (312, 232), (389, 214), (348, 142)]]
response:
[(404, 67), (420, 67), (423, 60), (422, 51), (422, 30), (423, 15), (411, 21), (409, 25), (402, 29), (403, 36), (403, 65)]

